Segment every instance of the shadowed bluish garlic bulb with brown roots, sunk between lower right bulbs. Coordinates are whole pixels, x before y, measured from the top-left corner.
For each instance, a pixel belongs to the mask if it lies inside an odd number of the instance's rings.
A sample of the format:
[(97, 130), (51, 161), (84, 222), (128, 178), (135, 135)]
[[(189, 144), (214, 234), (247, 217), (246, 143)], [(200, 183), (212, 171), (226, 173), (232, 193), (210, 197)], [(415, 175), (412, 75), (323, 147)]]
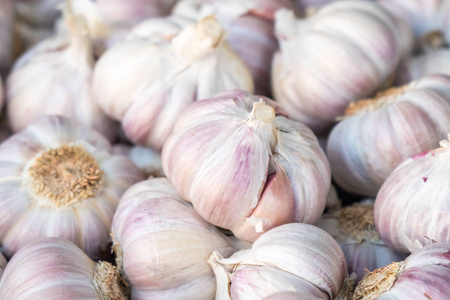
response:
[(373, 202), (355, 203), (325, 214), (316, 225), (339, 243), (347, 261), (348, 274), (357, 274), (355, 283), (367, 271), (402, 261), (407, 256), (390, 249), (381, 240), (373, 221)]

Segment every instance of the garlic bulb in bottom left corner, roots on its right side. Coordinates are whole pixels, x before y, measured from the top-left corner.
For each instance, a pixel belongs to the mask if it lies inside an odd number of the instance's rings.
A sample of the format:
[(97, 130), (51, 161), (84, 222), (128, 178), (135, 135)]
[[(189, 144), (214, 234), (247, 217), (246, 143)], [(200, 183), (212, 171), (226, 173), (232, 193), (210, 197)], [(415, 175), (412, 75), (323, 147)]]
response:
[(44, 238), (20, 249), (6, 266), (0, 298), (125, 300), (116, 268), (94, 262), (73, 243)]

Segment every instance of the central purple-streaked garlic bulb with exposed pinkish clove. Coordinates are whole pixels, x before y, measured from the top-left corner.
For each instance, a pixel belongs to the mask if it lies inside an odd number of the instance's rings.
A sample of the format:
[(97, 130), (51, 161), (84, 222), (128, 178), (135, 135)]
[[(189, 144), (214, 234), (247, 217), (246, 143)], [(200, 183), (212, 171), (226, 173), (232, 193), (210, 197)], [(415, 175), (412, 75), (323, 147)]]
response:
[(285, 223), (316, 222), (330, 188), (328, 161), (312, 131), (274, 101), (243, 91), (186, 108), (162, 163), (203, 218), (245, 241)]

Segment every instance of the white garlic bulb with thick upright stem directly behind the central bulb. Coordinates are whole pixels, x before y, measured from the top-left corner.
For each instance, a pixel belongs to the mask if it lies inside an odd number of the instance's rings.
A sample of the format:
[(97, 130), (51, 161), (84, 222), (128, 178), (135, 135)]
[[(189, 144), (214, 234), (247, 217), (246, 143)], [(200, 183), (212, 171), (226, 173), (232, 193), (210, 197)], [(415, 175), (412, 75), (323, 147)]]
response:
[(234, 88), (253, 91), (250, 72), (224, 37), (207, 17), (170, 41), (118, 44), (96, 64), (96, 100), (131, 141), (160, 150), (188, 104)]

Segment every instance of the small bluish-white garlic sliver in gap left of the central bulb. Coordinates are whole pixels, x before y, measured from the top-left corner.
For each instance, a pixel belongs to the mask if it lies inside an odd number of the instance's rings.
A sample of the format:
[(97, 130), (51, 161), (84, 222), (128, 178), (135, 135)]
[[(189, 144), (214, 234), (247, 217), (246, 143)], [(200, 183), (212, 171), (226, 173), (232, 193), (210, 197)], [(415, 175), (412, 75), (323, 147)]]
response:
[(150, 148), (140, 146), (114, 145), (114, 155), (125, 155), (141, 169), (145, 178), (165, 177), (161, 163), (161, 153)]

